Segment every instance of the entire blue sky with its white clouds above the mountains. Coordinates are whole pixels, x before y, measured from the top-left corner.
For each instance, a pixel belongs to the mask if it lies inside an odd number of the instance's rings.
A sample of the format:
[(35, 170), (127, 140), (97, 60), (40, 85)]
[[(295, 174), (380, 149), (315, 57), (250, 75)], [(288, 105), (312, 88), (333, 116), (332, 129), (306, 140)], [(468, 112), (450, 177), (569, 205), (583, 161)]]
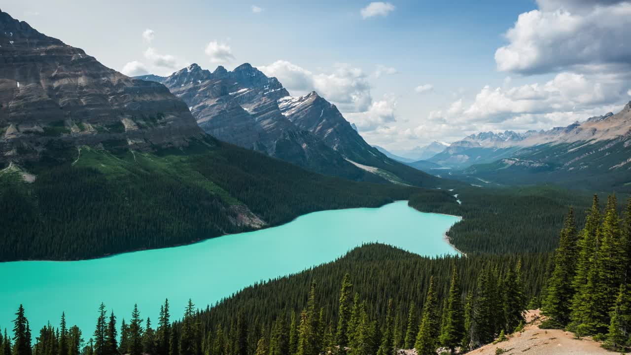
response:
[[(631, 93), (628, 50), (603, 55), (631, 30), (625, 1), (28, 0), (2, 9), (127, 75), (251, 63), (292, 95), (317, 90), (369, 143), (393, 150), (565, 125), (620, 109)], [(603, 18), (613, 24), (594, 30)]]

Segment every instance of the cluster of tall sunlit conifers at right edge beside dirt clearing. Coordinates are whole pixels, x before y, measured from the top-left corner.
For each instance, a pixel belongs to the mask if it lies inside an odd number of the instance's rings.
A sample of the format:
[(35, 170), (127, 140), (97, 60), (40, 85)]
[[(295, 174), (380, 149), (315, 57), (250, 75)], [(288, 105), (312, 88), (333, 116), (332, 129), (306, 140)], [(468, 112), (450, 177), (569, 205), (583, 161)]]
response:
[(623, 217), (616, 196), (601, 211), (598, 196), (585, 227), (576, 226), (570, 208), (543, 292), (546, 326), (565, 328), (578, 337), (593, 335), (604, 346), (631, 346), (631, 199)]

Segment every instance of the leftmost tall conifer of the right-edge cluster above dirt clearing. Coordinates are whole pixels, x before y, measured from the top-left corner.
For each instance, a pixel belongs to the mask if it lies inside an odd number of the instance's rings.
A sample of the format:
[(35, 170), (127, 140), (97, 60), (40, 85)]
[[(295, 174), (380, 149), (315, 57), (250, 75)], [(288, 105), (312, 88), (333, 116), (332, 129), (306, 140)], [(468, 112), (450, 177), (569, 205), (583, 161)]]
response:
[(555, 268), (548, 281), (547, 297), (543, 300), (543, 314), (550, 317), (556, 327), (565, 327), (570, 322), (570, 305), (574, 298), (572, 280), (576, 272), (577, 231), (574, 210), (565, 219), (560, 243), (555, 251)]

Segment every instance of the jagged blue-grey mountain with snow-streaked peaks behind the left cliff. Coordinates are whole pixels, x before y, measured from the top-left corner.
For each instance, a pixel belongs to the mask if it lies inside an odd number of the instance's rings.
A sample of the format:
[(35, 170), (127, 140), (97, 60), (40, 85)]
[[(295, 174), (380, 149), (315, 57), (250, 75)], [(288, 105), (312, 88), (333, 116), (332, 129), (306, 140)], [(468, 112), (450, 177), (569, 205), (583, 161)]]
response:
[(212, 72), (191, 64), (167, 77), (136, 78), (163, 83), (186, 102), (199, 126), (220, 140), (357, 181), (418, 185), (434, 180), (371, 147), (318, 93), (292, 97), (251, 64)]

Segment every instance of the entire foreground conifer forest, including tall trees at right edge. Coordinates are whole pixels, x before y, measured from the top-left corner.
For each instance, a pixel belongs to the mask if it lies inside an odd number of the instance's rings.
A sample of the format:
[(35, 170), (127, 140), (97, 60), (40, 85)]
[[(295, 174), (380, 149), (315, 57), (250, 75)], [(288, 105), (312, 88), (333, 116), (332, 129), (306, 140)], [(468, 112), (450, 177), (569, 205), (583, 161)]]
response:
[(538, 307), (545, 327), (623, 350), (631, 346), (631, 201), (622, 215), (616, 206), (612, 195), (601, 210), (594, 196), (582, 228), (570, 208), (554, 253), (427, 258), (367, 244), (212, 306), (189, 301), (184, 315), (165, 300), (153, 323), (137, 306), (114, 315), (101, 304), (94, 330), (71, 326), (60, 310), (59, 323), (36, 331), (20, 306), (1, 355), (453, 354), (520, 330), (525, 310)]

